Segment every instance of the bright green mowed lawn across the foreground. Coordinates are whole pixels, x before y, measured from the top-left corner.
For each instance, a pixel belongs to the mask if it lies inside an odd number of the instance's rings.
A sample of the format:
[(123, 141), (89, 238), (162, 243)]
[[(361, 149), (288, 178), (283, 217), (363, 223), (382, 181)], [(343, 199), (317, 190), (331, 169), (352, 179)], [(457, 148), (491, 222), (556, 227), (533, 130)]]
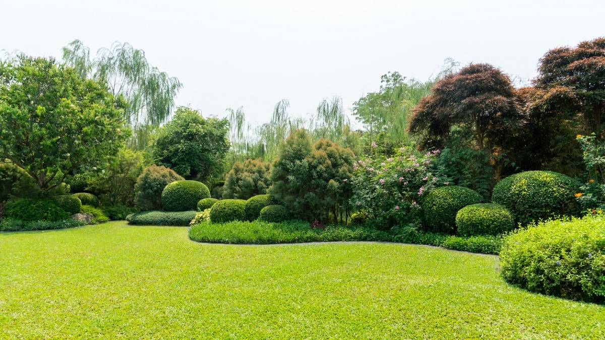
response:
[(427, 246), (201, 244), (112, 222), (0, 234), (0, 338), (603, 338), (605, 306)]

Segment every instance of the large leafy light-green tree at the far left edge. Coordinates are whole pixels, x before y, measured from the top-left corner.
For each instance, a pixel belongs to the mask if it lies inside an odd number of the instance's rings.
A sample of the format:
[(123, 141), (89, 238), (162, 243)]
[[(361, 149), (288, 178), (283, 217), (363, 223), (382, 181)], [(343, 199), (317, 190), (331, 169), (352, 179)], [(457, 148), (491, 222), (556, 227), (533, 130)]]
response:
[(54, 59), (0, 62), (0, 158), (24, 169), (42, 191), (116, 154), (127, 138), (123, 110), (99, 82)]

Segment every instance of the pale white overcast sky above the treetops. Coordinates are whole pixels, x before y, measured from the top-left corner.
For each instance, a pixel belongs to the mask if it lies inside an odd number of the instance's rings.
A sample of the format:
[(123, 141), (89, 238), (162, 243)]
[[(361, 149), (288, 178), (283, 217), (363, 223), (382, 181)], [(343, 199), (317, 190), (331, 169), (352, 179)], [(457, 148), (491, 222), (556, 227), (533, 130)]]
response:
[[(60, 58), (80, 39), (95, 52), (129, 42), (178, 77), (177, 105), (204, 116), (243, 106), (269, 120), (344, 106), (376, 91), (381, 74), (420, 80), (451, 57), (534, 77), (549, 48), (605, 35), (605, 1), (27, 1), (0, 0), (0, 50)], [(93, 54), (91, 53), (91, 54)]]

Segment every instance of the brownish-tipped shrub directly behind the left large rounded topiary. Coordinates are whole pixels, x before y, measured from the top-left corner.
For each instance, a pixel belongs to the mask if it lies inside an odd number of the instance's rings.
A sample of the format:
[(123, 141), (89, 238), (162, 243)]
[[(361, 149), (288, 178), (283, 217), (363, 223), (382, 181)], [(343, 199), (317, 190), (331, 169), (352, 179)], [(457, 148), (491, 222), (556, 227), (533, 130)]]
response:
[(151, 165), (143, 169), (134, 185), (134, 201), (139, 210), (162, 209), (162, 191), (169, 183), (180, 181), (180, 177), (172, 169), (164, 166)]

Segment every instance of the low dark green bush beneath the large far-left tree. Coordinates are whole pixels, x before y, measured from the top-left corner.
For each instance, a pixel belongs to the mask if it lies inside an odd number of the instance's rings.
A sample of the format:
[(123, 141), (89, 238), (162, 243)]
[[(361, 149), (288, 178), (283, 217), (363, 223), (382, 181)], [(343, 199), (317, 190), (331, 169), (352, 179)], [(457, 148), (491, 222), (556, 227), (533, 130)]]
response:
[(67, 211), (54, 203), (54, 200), (17, 198), (8, 201), (5, 209), (7, 218), (21, 221), (60, 221), (70, 217)]

